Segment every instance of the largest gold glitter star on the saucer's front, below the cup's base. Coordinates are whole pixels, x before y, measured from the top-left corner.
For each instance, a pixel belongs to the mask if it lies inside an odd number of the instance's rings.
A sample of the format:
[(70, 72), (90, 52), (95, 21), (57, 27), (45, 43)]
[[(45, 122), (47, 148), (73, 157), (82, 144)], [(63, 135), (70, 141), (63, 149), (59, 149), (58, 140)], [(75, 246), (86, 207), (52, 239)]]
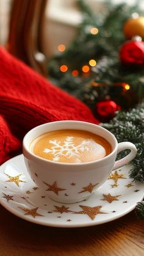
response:
[(87, 214), (92, 220), (95, 219), (96, 215), (104, 213), (103, 211), (101, 211), (101, 205), (98, 205), (96, 207), (87, 207), (86, 205), (79, 205), (79, 207), (81, 207), (83, 211), (75, 211), (74, 213)]

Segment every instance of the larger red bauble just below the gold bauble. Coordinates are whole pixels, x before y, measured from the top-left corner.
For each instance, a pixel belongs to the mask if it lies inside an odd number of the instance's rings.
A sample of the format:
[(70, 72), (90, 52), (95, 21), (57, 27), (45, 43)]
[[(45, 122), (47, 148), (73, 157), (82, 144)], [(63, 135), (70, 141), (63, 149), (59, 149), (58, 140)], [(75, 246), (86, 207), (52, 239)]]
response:
[(120, 59), (126, 65), (144, 65), (144, 42), (128, 41), (120, 49)]

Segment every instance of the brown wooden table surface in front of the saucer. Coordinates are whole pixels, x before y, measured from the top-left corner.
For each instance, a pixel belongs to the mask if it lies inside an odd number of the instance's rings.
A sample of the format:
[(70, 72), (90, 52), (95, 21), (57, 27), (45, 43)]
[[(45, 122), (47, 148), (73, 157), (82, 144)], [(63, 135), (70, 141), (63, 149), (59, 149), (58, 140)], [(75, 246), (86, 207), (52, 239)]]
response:
[(0, 256), (142, 256), (143, 224), (132, 211), (93, 227), (45, 227), (24, 221), (0, 206)]

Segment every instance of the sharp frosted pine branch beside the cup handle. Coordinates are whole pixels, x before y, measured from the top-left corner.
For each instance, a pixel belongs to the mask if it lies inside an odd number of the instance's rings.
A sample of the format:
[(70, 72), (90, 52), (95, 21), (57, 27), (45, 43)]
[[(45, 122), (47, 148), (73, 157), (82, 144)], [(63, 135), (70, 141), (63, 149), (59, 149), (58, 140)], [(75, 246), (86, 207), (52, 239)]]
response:
[[(102, 125), (117, 137), (118, 142), (129, 141), (137, 147), (130, 177), (144, 181), (144, 103), (128, 112), (118, 112), (110, 123)], [(118, 154), (118, 159), (128, 152)]]

